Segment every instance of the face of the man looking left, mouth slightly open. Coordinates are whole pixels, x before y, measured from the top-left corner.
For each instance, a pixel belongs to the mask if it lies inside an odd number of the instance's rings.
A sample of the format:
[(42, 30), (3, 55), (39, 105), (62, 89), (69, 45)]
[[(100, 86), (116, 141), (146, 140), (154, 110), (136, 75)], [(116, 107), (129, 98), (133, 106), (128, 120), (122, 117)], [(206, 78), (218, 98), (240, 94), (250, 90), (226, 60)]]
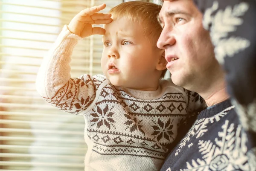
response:
[(192, 0), (164, 0), (159, 20), (163, 31), (157, 47), (165, 49), (172, 81), (195, 91), (218, 66), (202, 14)]

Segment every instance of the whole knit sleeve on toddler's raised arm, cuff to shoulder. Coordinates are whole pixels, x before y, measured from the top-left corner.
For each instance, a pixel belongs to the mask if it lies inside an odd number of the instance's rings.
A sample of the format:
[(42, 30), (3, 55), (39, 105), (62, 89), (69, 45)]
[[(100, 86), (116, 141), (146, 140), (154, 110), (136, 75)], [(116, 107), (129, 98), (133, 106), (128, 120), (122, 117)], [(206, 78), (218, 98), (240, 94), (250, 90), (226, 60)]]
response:
[(36, 78), (38, 93), (50, 104), (78, 114), (93, 102), (96, 87), (101, 84), (90, 75), (71, 78), (70, 61), (73, 48), (82, 39), (64, 26), (52, 48), (44, 57)]

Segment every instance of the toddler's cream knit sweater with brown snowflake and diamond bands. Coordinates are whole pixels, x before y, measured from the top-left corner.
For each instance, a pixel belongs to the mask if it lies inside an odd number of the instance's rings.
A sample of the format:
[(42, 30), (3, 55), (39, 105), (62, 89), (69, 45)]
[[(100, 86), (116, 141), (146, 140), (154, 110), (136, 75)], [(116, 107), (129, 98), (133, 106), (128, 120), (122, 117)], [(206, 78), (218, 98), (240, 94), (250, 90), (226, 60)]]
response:
[(79, 39), (64, 26), (38, 72), (38, 92), (59, 109), (84, 116), (85, 170), (158, 171), (180, 122), (204, 102), (170, 80), (161, 80), (156, 91), (140, 91), (115, 87), (104, 75), (70, 78)]

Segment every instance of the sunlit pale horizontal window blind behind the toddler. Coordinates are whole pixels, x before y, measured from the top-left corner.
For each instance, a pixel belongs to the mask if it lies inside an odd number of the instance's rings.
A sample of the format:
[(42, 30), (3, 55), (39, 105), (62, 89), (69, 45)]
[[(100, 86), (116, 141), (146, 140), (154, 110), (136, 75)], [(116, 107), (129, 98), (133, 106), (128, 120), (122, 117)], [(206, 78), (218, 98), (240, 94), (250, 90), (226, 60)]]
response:
[[(84, 119), (47, 104), (35, 90), (41, 61), (64, 24), (84, 8), (123, 0), (0, 0), (0, 171), (81, 171)], [(71, 76), (102, 73), (101, 36), (79, 41)]]

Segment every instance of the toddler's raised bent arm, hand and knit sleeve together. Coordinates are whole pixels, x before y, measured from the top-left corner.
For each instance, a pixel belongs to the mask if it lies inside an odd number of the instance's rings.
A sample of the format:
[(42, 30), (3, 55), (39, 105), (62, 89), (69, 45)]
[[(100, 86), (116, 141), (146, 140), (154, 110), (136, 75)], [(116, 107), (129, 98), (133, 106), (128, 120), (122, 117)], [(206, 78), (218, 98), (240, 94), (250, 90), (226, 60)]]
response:
[(105, 4), (84, 9), (77, 14), (69, 26), (64, 26), (53, 47), (43, 59), (36, 79), (36, 89), (45, 100), (61, 110), (78, 114), (89, 107), (95, 99), (95, 83), (98, 84), (99, 81), (90, 75), (71, 78), (69, 63), (73, 48), (79, 39), (93, 34), (105, 34), (103, 28), (92, 27), (93, 23), (111, 22), (110, 14), (106, 16), (96, 13), (104, 8)]

